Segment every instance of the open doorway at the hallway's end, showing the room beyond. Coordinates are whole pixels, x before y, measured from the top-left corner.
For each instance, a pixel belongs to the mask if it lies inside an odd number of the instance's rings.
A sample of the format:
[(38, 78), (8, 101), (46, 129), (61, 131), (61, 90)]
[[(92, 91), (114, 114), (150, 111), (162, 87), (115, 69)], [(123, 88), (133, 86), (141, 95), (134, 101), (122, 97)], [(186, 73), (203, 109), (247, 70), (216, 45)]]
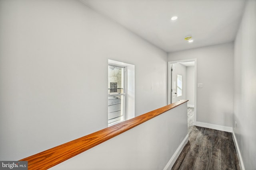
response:
[(168, 104), (178, 100), (189, 100), (188, 124), (196, 125), (196, 59), (168, 62)]

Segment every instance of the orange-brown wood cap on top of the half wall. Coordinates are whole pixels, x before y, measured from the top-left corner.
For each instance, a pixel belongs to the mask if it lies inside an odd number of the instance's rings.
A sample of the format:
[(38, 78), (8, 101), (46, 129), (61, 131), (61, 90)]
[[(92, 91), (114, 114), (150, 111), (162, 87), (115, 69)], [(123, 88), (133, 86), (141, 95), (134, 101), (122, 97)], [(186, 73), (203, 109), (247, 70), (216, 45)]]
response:
[(77, 154), (80, 154), (100, 143), (103, 143), (133, 127), (136, 127), (145, 121), (148, 121), (174, 107), (177, 107), (181, 104), (188, 102), (188, 100), (180, 100), (173, 104), (161, 107), (159, 109), (150, 111), (143, 115), (134, 117), (132, 119), (123, 121), (111, 127), (107, 127), (100, 131), (91, 133), (90, 135), (86, 135), (84, 137), (75, 139), (74, 141), (70, 141), (68, 143), (64, 143), (52, 149), (45, 150), (38, 154), (34, 154), (27, 158), (21, 159), (21, 161), (28, 161), (28, 169), (31, 170), (39, 170), (39, 169), (48, 169), (51, 168)]

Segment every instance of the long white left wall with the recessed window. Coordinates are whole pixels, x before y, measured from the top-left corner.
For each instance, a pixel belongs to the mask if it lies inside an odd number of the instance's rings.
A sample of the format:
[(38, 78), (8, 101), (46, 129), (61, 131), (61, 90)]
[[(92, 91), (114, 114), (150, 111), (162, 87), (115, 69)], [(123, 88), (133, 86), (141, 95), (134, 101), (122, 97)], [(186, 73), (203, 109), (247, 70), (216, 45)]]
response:
[(167, 54), (76, 0), (0, 0), (0, 160), (108, 126), (108, 59), (135, 65), (135, 112), (167, 104)]

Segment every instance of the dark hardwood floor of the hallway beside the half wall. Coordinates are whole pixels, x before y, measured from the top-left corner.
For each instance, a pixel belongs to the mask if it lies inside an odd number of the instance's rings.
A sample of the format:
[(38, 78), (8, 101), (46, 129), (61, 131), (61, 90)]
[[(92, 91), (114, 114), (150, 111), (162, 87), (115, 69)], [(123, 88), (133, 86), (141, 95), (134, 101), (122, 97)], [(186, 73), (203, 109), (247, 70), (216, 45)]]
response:
[(188, 127), (189, 141), (172, 170), (240, 170), (231, 133)]

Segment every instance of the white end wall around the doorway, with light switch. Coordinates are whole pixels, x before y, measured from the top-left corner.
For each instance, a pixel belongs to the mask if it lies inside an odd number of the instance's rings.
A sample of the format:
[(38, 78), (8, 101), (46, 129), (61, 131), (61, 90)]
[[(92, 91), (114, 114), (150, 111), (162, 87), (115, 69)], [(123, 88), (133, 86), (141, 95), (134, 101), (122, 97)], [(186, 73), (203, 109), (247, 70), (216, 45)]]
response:
[(168, 61), (197, 59), (197, 121), (232, 127), (233, 55), (233, 43), (168, 54)]

